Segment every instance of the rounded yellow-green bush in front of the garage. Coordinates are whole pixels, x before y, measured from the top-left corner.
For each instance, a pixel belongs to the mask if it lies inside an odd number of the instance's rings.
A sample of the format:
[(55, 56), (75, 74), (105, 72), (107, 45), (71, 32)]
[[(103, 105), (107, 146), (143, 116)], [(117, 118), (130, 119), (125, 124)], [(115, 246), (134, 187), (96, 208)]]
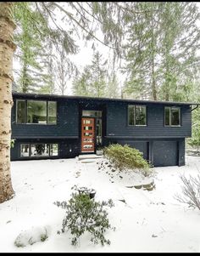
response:
[(105, 147), (103, 152), (114, 168), (118, 168), (119, 171), (139, 169), (146, 176), (149, 172), (150, 166), (143, 158), (142, 152), (131, 148), (129, 145), (111, 144)]

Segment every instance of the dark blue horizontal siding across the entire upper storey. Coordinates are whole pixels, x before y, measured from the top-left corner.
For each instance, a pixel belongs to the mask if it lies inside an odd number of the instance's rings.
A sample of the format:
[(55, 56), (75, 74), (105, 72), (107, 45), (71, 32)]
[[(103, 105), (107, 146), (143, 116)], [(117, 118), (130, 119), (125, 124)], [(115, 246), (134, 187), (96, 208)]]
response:
[[(192, 113), (190, 105), (181, 107), (181, 127), (164, 127), (164, 104), (147, 105), (147, 126), (128, 125), (128, 103), (110, 102), (106, 100), (71, 100), (71, 99), (42, 99), (28, 100), (57, 100), (57, 125), (16, 124), (15, 107), (12, 108), (12, 137), (13, 138), (47, 138), (74, 137), (80, 138), (80, 115), (82, 109), (97, 109), (103, 111), (103, 137), (121, 139), (144, 138), (184, 138), (192, 135)], [(133, 103), (132, 103), (133, 104)], [(140, 104), (142, 105), (142, 104)]]

